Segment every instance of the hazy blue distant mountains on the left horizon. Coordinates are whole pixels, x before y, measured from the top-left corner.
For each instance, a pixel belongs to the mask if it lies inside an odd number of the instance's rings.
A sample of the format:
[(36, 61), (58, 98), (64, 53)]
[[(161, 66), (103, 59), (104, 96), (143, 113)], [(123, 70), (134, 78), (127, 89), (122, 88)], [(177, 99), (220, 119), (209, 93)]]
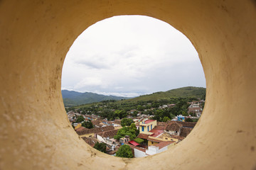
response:
[(94, 103), (107, 100), (122, 100), (128, 99), (127, 97), (120, 96), (105, 96), (102, 94), (94, 94), (90, 92), (80, 93), (78, 91), (62, 90), (63, 102), (65, 107), (73, 107), (86, 103)]

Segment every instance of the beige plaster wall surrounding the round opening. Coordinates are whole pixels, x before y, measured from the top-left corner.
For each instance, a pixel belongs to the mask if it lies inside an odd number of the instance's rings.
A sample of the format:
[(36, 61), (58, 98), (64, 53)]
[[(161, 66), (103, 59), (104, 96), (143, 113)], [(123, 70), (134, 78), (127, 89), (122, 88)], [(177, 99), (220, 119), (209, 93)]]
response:
[[(180, 30), (206, 75), (196, 128), (168, 151), (139, 159), (86, 145), (70, 126), (60, 93), (75, 38), (124, 14)], [(0, 169), (256, 169), (255, 30), (255, 0), (1, 0)]]

